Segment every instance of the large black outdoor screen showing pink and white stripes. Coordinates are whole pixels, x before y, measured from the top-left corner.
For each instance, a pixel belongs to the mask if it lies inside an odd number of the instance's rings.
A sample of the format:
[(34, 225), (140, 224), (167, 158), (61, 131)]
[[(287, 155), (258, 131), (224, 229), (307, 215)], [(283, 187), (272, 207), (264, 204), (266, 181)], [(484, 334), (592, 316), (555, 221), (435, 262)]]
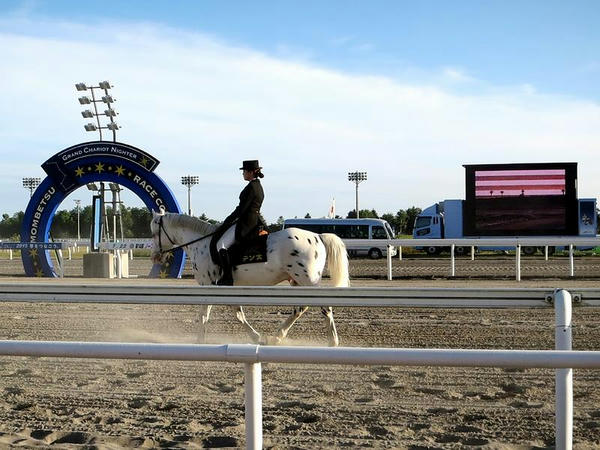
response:
[(578, 233), (577, 163), (464, 167), (465, 236)]

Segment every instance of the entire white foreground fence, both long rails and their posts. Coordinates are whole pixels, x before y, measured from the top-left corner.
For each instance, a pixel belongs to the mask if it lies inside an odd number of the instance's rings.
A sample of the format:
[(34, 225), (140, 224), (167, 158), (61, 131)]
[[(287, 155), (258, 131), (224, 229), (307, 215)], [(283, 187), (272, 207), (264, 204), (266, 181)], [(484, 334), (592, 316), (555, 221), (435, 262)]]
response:
[[(441, 298), (440, 298), (441, 297)], [(502, 298), (504, 297), (504, 298)], [(581, 290), (582, 305), (600, 305), (600, 289)], [(600, 368), (600, 352), (573, 352), (572, 296), (545, 289), (388, 289), (292, 287), (178, 287), (2, 284), (0, 301), (427, 307), (555, 308), (550, 350), (373, 349), (0, 341), (1, 355), (234, 361), (245, 364), (246, 446), (262, 448), (261, 362), (556, 368), (556, 446), (572, 448), (572, 368)]]

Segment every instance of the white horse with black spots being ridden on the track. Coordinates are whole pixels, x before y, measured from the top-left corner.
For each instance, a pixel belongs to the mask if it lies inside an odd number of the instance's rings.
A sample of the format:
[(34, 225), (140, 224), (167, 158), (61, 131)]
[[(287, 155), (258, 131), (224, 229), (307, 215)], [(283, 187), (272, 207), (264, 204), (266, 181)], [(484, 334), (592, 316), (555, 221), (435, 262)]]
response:
[[(185, 214), (153, 212), (150, 223), (154, 240), (153, 262), (164, 263), (169, 250), (184, 248), (198, 284), (215, 284), (221, 277), (221, 269), (210, 256), (210, 239), (203, 237), (213, 233), (216, 228), (216, 225)], [(286, 228), (270, 233), (266, 244), (266, 262), (234, 267), (235, 286), (273, 286), (286, 280), (292, 286), (317, 286), (321, 282), (326, 263), (333, 286), (350, 286), (346, 247), (335, 234), (316, 234), (299, 228)], [(200, 342), (206, 342), (211, 308), (212, 305), (202, 306)], [(230, 308), (235, 311), (235, 317), (246, 328), (252, 342), (261, 342), (260, 333), (248, 323), (242, 307)], [(307, 309), (307, 306), (294, 308), (279, 327), (274, 337), (275, 343), (283, 342), (290, 328)], [(333, 310), (331, 307), (323, 307), (322, 313), (325, 316), (329, 345), (337, 346), (339, 337), (333, 321)]]

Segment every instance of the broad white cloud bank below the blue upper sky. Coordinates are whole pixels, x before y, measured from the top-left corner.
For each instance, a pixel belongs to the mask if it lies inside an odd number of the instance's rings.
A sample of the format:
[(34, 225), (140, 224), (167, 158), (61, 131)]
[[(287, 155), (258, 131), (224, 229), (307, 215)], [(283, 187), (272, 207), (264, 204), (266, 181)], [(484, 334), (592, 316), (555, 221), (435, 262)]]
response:
[[(426, 82), (352, 75), (147, 23), (4, 20), (0, 57), (9, 213), (28, 199), (18, 177), (43, 176), (49, 156), (90, 139), (74, 84), (104, 79), (115, 85), (118, 139), (161, 160), (157, 173), (184, 207), (179, 177), (200, 175), (193, 210), (217, 219), (237, 203), (240, 162), (254, 158), (269, 221), (325, 215), (332, 197), (338, 213), (352, 210), (354, 170), (368, 172), (360, 206), (380, 213), (462, 198), (467, 163), (576, 161), (580, 193), (600, 188), (600, 108), (533, 85), (482, 87), (449, 68)], [(432, 81), (444, 77), (460, 92)]]

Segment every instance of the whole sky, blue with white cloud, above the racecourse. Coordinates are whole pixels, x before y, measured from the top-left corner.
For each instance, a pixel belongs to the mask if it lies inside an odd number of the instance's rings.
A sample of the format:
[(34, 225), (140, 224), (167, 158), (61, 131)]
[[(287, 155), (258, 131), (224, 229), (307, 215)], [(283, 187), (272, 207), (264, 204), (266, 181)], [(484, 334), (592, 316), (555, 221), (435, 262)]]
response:
[(598, 23), (595, 1), (4, 0), (1, 212), (25, 209), (15, 173), (43, 176), (90, 138), (73, 85), (102, 79), (119, 140), (162, 161), (182, 204), (178, 176), (201, 175), (193, 210), (217, 219), (248, 158), (273, 221), (332, 198), (346, 214), (353, 170), (380, 213), (462, 198), (468, 163), (579, 162), (580, 196), (596, 197)]

